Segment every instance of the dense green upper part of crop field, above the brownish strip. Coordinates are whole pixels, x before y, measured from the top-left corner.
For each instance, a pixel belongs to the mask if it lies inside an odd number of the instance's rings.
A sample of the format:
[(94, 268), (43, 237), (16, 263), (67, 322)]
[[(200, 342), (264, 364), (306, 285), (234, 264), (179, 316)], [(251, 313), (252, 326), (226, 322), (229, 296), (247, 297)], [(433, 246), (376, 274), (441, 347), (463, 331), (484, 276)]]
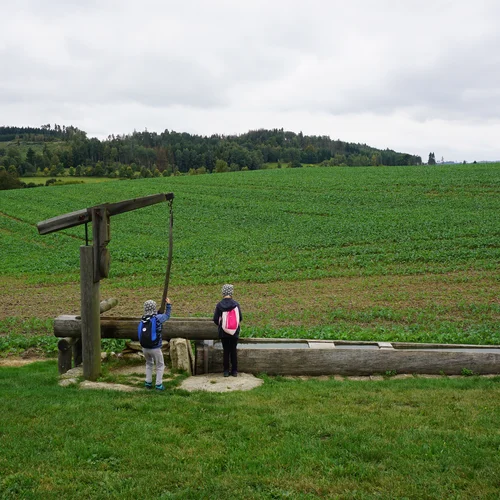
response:
[[(499, 166), (317, 168), (4, 192), (2, 274), (77, 276), (83, 226), (42, 237), (38, 221), (167, 191), (179, 283), (494, 270), (500, 258)], [(167, 215), (113, 218), (114, 277), (161, 274)]]

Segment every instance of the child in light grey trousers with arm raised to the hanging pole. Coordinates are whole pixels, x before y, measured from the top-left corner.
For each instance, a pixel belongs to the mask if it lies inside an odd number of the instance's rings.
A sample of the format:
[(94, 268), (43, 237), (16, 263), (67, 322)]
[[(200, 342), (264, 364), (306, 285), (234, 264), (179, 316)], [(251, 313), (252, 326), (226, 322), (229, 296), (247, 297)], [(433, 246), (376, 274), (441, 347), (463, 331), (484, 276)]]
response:
[(163, 344), (161, 331), (163, 329), (163, 323), (170, 318), (170, 313), (172, 312), (172, 304), (169, 298), (167, 298), (166, 304), (165, 314), (158, 314), (156, 311), (156, 302), (154, 300), (146, 300), (146, 302), (144, 302), (144, 315), (142, 316), (142, 321), (150, 320), (153, 316), (156, 317), (156, 340), (150, 347), (144, 347), (142, 345), (143, 342), (141, 342), (141, 346), (144, 358), (146, 359), (146, 383), (144, 385), (146, 389), (151, 389), (153, 387), (153, 366), (156, 365), (155, 389), (158, 391), (163, 391), (165, 389), (163, 387), (165, 361), (161, 350)]

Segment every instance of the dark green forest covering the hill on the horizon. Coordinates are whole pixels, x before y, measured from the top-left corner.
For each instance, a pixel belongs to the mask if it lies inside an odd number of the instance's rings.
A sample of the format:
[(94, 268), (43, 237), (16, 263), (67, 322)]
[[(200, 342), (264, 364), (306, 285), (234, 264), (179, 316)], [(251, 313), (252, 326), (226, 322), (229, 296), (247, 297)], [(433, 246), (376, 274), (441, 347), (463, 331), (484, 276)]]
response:
[(104, 140), (73, 126), (0, 127), (0, 173), (159, 177), (262, 168), (419, 165), (420, 156), (283, 129), (241, 135), (134, 131)]

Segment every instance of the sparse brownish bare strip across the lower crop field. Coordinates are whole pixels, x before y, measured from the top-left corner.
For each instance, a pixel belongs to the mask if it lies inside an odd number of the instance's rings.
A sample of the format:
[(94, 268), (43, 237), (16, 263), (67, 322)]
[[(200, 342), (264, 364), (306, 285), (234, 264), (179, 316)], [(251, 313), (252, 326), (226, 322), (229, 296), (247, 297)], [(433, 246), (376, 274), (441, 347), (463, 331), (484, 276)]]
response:
[[(54, 318), (60, 314), (79, 314), (79, 283), (30, 285), (22, 279), (5, 278), (0, 291), (0, 319)], [(117, 307), (105, 316), (140, 316), (142, 304), (153, 298), (159, 301), (161, 284), (150, 288), (118, 288), (117, 279), (103, 280), (101, 297), (116, 297)], [(115, 286), (113, 286), (113, 283)], [(220, 286), (171, 286), (173, 316), (211, 316), (220, 299)], [(441, 319), (460, 320), (470, 315), (469, 304), (498, 304), (498, 272), (455, 272), (416, 276), (343, 277), (323, 280), (273, 282), (266, 284), (235, 283), (235, 298), (243, 309), (244, 323), (280, 327), (300, 324), (332, 323), (332, 312), (344, 314), (373, 308), (395, 311), (421, 309), (436, 311)], [(278, 311), (278, 313), (276, 313)], [(472, 313), (474, 314), (474, 313)], [(477, 313), (481, 314), (481, 313)], [(488, 313), (498, 318), (494, 312)], [(377, 323), (387, 321), (380, 318)], [(405, 319), (397, 320), (404, 323)], [(389, 320), (390, 322), (390, 320)]]

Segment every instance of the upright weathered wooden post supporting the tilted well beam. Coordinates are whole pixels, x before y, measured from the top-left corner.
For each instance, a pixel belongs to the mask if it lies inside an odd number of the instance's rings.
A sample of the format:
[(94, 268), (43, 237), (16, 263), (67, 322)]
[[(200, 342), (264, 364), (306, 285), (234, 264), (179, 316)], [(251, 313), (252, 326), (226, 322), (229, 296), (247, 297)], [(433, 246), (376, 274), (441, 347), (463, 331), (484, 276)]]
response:
[(83, 376), (86, 380), (97, 380), (101, 375), (99, 281), (94, 282), (93, 248), (90, 246), (80, 247), (80, 300)]

